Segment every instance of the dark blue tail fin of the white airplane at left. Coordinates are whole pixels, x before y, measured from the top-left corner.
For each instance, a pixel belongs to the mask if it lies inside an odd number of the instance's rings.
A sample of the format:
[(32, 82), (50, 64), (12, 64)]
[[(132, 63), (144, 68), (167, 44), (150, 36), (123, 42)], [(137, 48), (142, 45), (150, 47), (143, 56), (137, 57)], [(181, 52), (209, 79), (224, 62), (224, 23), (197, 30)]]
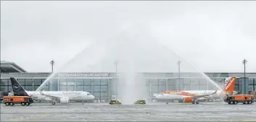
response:
[(14, 77), (11, 77), (10, 79), (12, 82), (12, 90), (13, 90), (15, 96), (28, 96), (28, 93), (20, 85), (20, 83), (17, 82), (17, 80)]

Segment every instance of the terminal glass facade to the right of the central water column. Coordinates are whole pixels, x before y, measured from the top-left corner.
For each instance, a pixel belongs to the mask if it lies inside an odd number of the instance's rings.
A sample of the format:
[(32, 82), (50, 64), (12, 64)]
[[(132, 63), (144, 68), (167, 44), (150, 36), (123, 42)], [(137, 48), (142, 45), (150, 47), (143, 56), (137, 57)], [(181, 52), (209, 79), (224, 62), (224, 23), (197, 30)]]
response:
[[(180, 81), (180, 83), (178, 83)], [(215, 84), (218, 84), (220, 88), (225, 86), (225, 78), (212, 78)], [(165, 90), (218, 90), (212, 82), (208, 79), (200, 78), (181, 78), (181, 79), (146, 79), (149, 82), (146, 86), (149, 87), (149, 96), (154, 97), (155, 94)], [(240, 85), (239, 85), (239, 82)], [(151, 86), (151, 87), (150, 87)], [(241, 93), (249, 93), (249, 91), (255, 91), (256, 78), (244, 78), (236, 79), (234, 90)]]

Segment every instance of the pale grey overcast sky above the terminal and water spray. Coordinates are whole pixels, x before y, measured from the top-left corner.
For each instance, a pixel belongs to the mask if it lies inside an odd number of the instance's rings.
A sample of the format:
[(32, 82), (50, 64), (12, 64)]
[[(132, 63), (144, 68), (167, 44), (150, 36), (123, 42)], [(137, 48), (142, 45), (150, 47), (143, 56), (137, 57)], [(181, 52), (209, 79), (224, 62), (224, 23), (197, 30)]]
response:
[(104, 62), (130, 54), (155, 71), (177, 71), (178, 60), (186, 71), (186, 59), (206, 72), (242, 72), (247, 58), (255, 72), (255, 12), (256, 1), (1, 1), (1, 61), (30, 72), (51, 71), (51, 59), (55, 69), (115, 71)]

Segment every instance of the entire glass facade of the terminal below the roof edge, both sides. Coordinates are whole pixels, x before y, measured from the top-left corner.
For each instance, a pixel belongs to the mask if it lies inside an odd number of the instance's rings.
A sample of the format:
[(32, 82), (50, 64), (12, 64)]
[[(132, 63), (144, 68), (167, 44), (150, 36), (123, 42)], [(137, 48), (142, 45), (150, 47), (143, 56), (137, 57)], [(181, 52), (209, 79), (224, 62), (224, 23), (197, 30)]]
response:
[[(225, 77), (216, 77), (211, 80), (218, 84), (220, 88), (224, 87)], [(18, 82), (25, 88), (25, 90), (35, 91), (44, 82), (46, 78), (25, 78), (18, 79)], [(120, 88), (116, 86), (120, 84), (119, 80), (112, 77), (107, 78), (89, 78), (89, 77), (77, 77), (77, 78), (54, 78), (44, 84), (43, 90), (51, 91), (85, 91), (91, 92), (96, 99), (111, 99), (112, 95), (118, 95), (117, 91)], [(145, 87), (148, 96), (154, 97), (165, 90), (218, 90), (218, 88), (204, 78), (145, 78)], [(236, 79), (234, 90), (241, 93), (249, 93), (249, 91), (255, 91), (256, 78), (243, 77)], [(10, 79), (1, 78), (0, 81), (1, 92), (12, 92), (12, 85)]]

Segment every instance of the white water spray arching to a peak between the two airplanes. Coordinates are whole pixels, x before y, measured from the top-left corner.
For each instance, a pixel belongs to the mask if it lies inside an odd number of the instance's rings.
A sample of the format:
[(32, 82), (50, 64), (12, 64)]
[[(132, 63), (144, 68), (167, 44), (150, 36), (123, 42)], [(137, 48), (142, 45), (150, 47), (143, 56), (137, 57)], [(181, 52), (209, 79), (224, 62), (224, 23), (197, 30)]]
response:
[(193, 76), (182, 77), (199, 77), (208, 80), (202, 72), (151, 35), (146, 25), (141, 23), (127, 25), (112, 38), (96, 40), (72, 60), (67, 61), (67, 64), (49, 79), (54, 78), (59, 72), (117, 70), (117, 99), (123, 104), (133, 104), (138, 99), (149, 97), (146, 77), (141, 73), (177, 72), (178, 61), (182, 62), (182, 72), (194, 72)]

